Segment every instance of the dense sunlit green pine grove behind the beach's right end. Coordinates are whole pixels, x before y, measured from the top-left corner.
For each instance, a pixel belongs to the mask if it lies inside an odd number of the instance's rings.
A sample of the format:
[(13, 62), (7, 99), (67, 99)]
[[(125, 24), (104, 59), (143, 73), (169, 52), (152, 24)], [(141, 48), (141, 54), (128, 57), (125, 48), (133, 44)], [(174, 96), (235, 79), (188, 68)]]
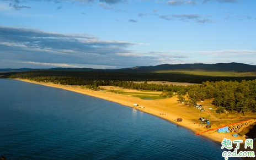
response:
[(224, 109), (245, 113), (256, 111), (256, 80), (203, 82), (188, 89), (192, 102), (213, 98), (218, 112)]

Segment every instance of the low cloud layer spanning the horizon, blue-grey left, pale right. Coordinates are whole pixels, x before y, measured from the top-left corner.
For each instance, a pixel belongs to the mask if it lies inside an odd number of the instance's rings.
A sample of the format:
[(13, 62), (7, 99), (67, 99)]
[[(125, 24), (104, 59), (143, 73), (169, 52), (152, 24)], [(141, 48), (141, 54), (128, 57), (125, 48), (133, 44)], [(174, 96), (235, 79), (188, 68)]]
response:
[[(197, 19), (196, 15), (176, 17)], [(67, 35), (0, 26), (0, 68), (125, 68), (164, 63), (219, 62), (254, 64), (256, 59), (256, 51), (249, 49), (141, 52), (131, 49), (136, 45), (140, 44), (100, 40), (85, 34)]]

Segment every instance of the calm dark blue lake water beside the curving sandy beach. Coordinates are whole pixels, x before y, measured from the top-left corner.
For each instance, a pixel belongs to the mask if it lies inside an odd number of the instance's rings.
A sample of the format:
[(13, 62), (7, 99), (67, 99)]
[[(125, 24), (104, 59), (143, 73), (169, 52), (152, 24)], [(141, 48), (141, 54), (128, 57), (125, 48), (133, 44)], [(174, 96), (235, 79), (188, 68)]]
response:
[(71, 91), (0, 79), (7, 159), (223, 159), (219, 145), (153, 115)]

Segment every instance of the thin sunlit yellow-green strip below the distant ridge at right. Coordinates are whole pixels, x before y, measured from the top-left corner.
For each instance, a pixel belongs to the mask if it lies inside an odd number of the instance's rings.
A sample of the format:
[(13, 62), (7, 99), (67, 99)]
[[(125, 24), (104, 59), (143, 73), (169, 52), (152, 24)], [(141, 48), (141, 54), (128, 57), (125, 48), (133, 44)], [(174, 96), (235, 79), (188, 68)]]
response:
[(204, 76), (256, 76), (256, 71), (236, 72), (236, 71), (207, 71), (207, 70), (159, 70), (155, 73), (175, 73), (189, 75), (204, 75)]

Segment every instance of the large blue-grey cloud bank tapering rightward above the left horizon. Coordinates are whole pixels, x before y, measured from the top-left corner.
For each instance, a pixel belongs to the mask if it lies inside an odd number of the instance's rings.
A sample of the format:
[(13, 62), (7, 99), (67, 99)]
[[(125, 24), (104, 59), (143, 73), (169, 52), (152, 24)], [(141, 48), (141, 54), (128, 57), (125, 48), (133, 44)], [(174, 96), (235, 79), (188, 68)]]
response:
[(56, 66), (67, 64), (67, 67), (69, 65), (127, 67), (157, 63), (157, 60), (150, 56), (131, 51), (130, 47), (135, 45), (124, 41), (100, 40), (88, 35), (65, 35), (0, 26), (2, 63), (3, 61), (19, 62), (19, 64), (30, 62), (26, 64), (42, 67), (51, 64), (56, 64)]

